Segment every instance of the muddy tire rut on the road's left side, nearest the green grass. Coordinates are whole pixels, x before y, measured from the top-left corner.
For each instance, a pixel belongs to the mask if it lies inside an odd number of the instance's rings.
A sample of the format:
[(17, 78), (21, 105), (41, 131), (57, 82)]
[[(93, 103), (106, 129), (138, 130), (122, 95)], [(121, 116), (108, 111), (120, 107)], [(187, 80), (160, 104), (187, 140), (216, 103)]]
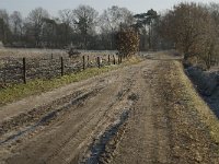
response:
[[(107, 81), (106, 78), (108, 78)], [(100, 87), (101, 85), (104, 86), (104, 84), (106, 84), (108, 81), (115, 81), (115, 78), (116, 75), (112, 77), (111, 74), (107, 74), (101, 78), (99, 81), (91, 81), (90, 83), (85, 81), (83, 82), (84, 86), (82, 86), (83, 83), (77, 84), (76, 86), (79, 85), (79, 89), (77, 87), (77, 90), (72, 91), (70, 94), (68, 93), (68, 95), (59, 97), (50, 103), (43, 104), (37, 107), (31, 106), (33, 108), (30, 108), (27, 112), (18, 113), (9, 118), (7, 118), (8, 116), (4, 116), (5, 118), (2, 118), (0, 120), (0, 138), (3, 134), (9, 133), (10, 131), (21, 131), (22, 127), (23, 129), (26, 129), (26, 127), (30, 127), (31, 125), (33, 126), (34, 124), (39, 121), (39, 119), (42, 119), (42, 117), (44, 117), (45, 115), (47, 115), (48, 113), (53, 113), (53, 110), (56, 109), (57, 106), (69, 103), (71, 99), (80, 96), (80, 94), (83, 94), (91, 90), (95, 90), (95, 87)], [(7, 110), (10, 109), (9, 107), (4, 108)]]

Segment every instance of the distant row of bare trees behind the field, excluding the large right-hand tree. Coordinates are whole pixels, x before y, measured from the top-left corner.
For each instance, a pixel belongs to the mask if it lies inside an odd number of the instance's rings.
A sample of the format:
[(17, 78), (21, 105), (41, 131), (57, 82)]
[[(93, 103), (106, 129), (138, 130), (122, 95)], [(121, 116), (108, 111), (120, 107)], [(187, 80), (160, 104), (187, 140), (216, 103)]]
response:
[(43, 8), (23, 17), (19, 11), (9, 14), (0, 10), (0, 40), (12, 47), (116, 49), (116, 33), (135, 27), (142, 30), (141, 49), (148, 49), (147, 28), (154, 19), (151, 14), (158, 15), (151, 11), (135, 16), (128, 9), (113, 5), (99, 14), (89, 5), (79, 5), (74, 10), (60, 10), (57, 17)]

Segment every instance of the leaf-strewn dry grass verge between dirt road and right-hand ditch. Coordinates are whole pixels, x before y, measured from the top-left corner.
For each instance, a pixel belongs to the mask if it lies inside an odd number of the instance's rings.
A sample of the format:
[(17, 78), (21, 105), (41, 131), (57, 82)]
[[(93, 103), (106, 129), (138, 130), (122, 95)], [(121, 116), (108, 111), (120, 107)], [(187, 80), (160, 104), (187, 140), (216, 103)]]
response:
[(161, 102), (169, 117), (176, 163), (218, 163), (219, 121), (176, 60), (158, 69)]

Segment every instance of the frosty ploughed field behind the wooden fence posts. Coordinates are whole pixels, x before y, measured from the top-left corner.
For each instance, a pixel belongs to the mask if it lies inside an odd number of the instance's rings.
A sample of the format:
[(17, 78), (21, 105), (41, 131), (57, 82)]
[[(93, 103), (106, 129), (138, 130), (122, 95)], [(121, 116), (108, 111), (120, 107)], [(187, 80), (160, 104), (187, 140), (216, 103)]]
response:
[(0, 89), (24, 81), (77, 73), (83, 67), (95, 68), (99, 67), (97, 57), (102, 67), (117, 63), (117, 56), (113, 51), (81, 51), (69, 58), (65, 50), (58, 49), (0, 49)]

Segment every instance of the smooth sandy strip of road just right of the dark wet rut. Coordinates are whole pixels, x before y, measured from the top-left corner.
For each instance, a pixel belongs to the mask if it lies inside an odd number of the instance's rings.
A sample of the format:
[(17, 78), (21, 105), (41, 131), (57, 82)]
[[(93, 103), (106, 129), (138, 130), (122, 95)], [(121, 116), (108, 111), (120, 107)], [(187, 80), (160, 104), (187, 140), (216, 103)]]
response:
[[(155, 63), (153, 66), (158, 67)], [(110, 163), (171, 163), (168, 117), (153, 90), (157, 73), (153, 67), (141, 69), (135, 86), (139, 99), (131, 110), (126, 134)]]

